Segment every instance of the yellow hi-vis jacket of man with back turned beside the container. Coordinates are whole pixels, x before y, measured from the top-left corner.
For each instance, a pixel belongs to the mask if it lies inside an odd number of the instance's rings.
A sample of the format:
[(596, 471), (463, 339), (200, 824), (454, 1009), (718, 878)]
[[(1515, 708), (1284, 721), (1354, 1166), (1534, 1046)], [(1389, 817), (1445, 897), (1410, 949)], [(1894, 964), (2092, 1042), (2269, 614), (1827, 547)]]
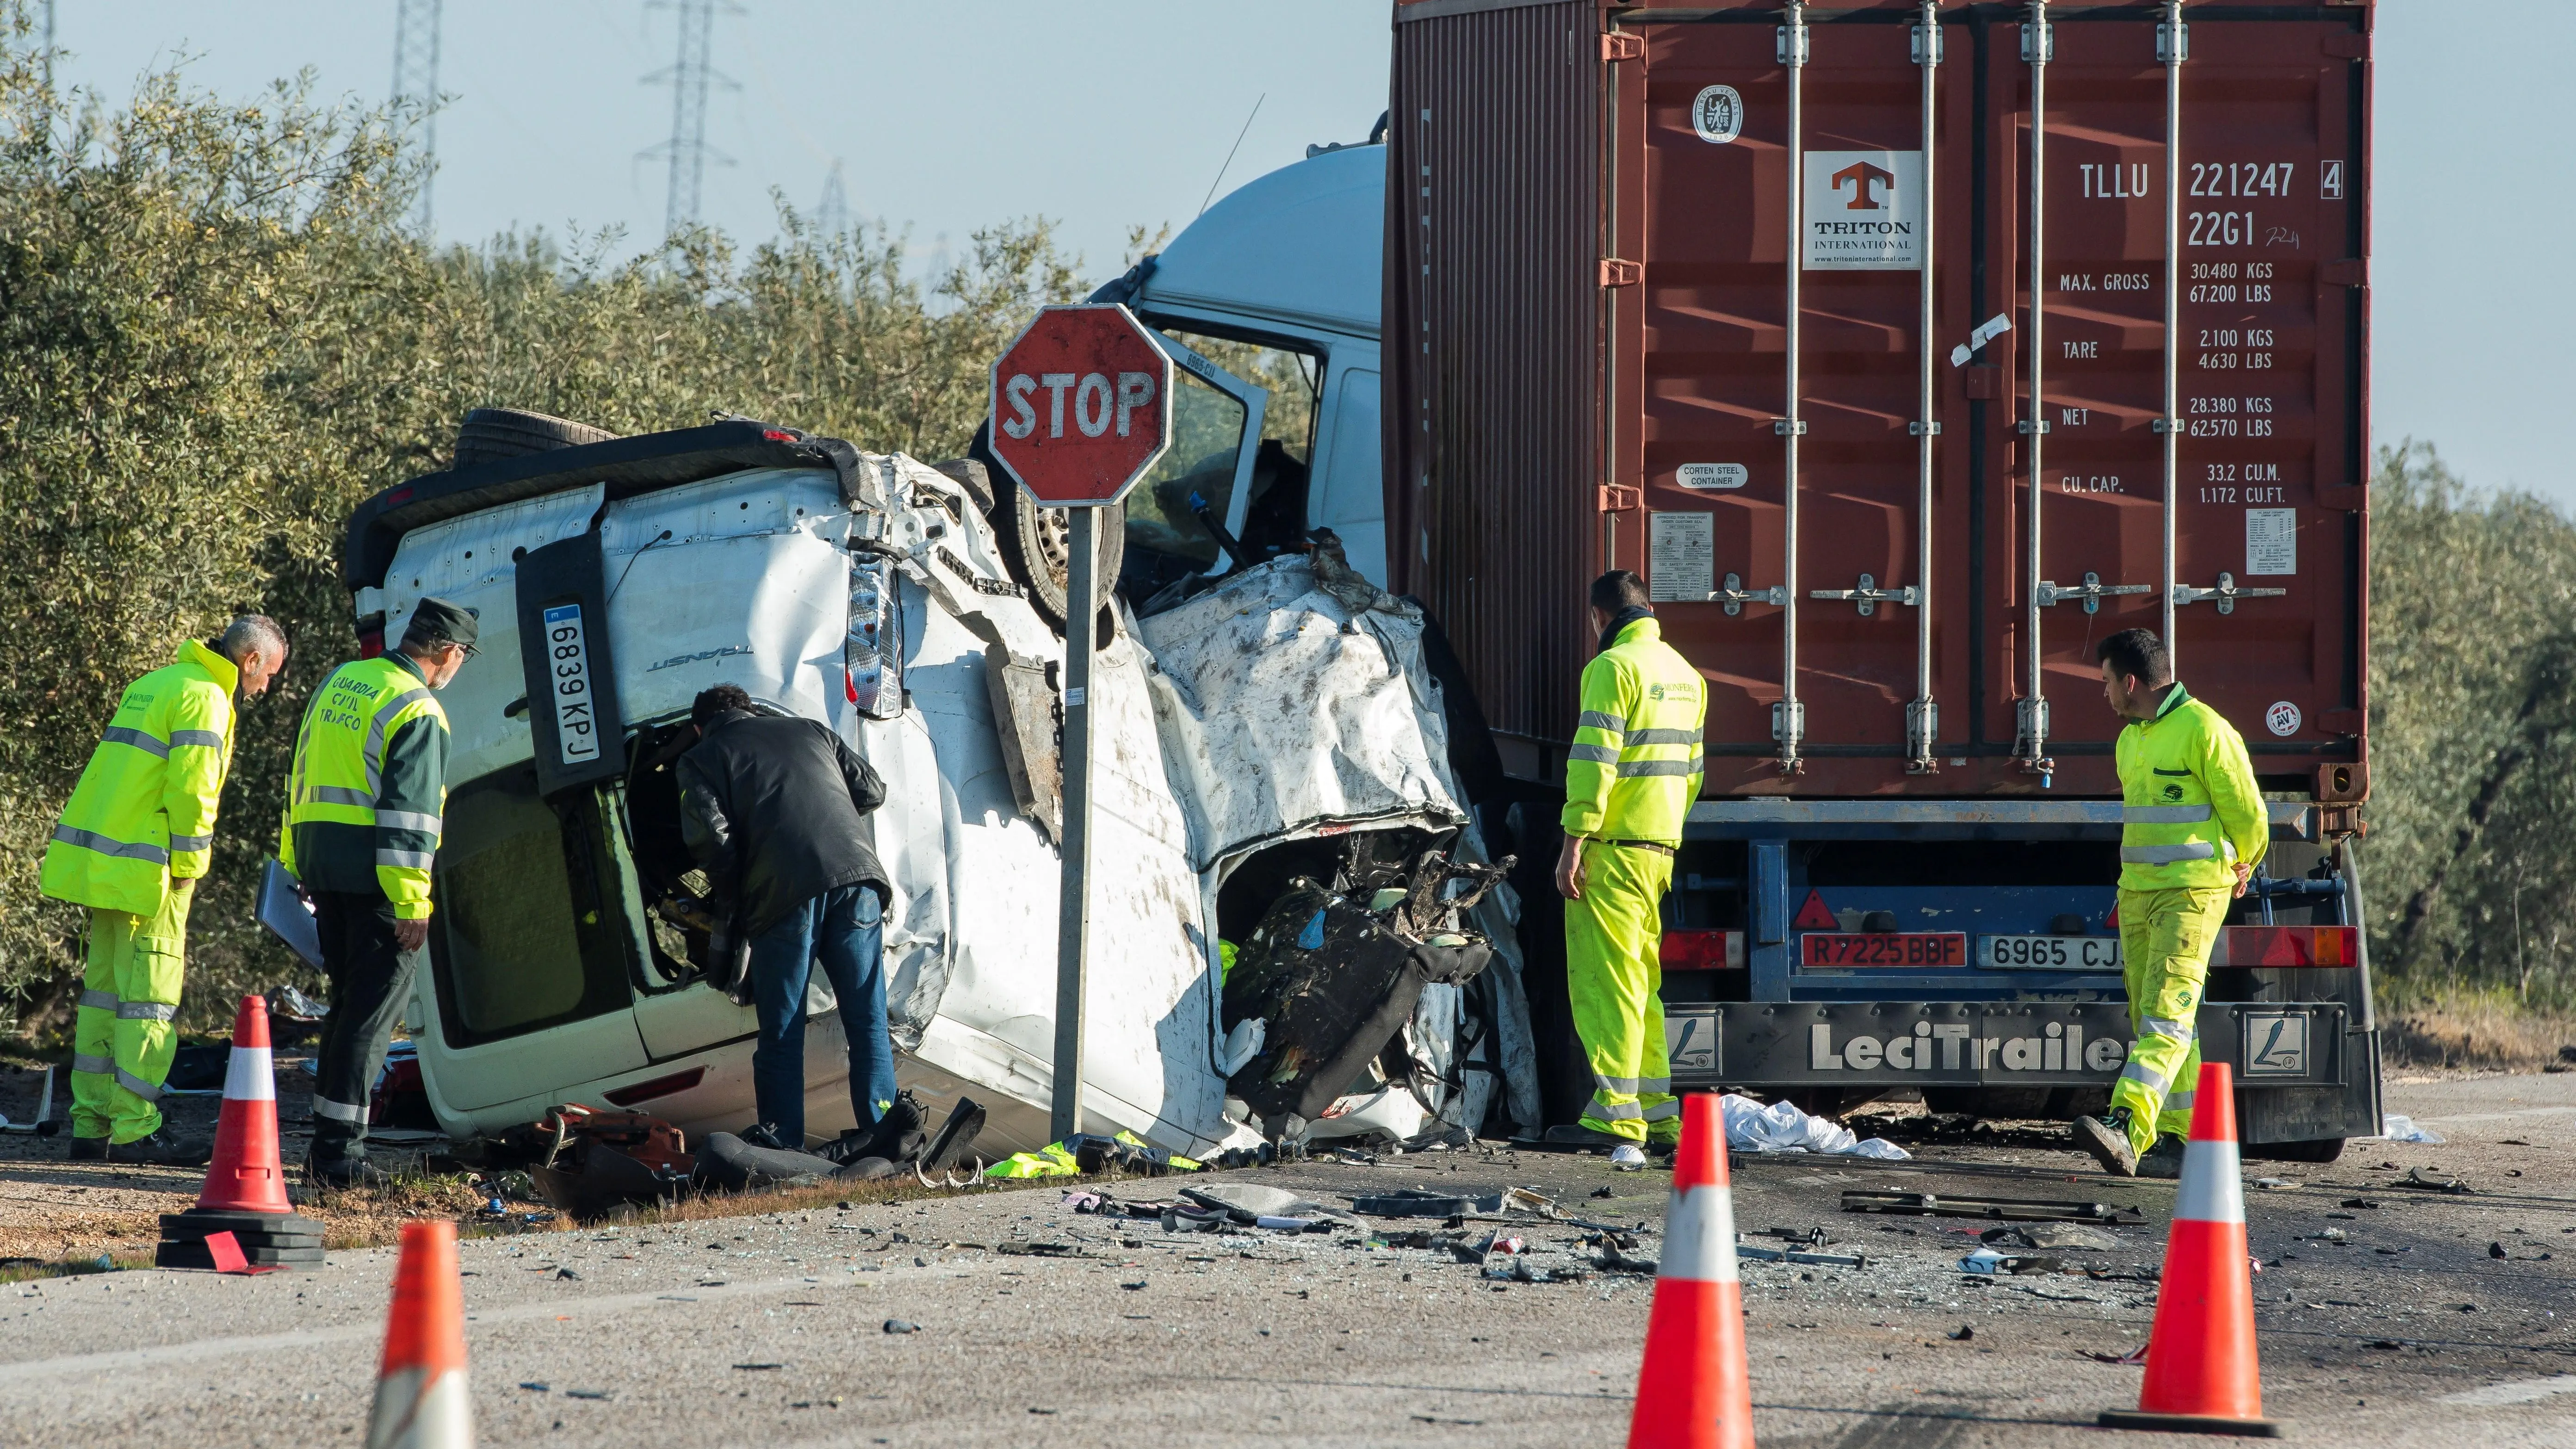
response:
[(1566, 835), (1677, 846), (1700, 799), (1708, 681), (1664, 627), (1638, 619), (1584, 665), (1582, 714), (1566, 750)]

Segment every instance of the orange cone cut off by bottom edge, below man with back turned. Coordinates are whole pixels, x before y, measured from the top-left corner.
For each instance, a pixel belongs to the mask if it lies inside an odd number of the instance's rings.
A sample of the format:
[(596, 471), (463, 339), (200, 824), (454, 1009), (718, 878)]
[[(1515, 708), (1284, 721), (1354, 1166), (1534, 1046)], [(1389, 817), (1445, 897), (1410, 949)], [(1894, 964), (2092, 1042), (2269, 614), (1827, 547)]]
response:
[(1628, 1449), (1754, 1449), (1726, 1116), (1710, 1093), (1682, 1098), (1682, 1150), (1672, 1158), (1664, 1261), (1646, 1315)]

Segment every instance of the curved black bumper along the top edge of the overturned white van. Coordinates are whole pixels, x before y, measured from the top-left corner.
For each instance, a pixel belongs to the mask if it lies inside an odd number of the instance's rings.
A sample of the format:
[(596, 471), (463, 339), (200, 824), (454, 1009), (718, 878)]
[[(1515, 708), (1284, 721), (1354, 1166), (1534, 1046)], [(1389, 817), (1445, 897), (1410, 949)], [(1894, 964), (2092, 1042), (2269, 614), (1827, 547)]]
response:
[(386, 487), (348, 516), (340, 583), (350, 590), (381, 588), (402, 536), (440, 518), (592, 482), (608, 485), (608, 498), (634, 498), (755, 467), (827, 469), (832, 456), (822, 443), (827, 438), (809, 438), (768, 423), (729, 420), (422, 474)]

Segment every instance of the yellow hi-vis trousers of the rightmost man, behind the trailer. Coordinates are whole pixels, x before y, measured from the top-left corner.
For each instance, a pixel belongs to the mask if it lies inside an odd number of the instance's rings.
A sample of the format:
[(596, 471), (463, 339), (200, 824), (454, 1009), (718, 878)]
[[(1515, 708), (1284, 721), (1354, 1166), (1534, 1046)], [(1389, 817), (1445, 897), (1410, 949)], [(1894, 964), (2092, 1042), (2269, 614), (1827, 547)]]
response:
[(2120, 892), (2120, 975), (2128, 980), (2128, 1024), (2136, 1036), (2128, 1067), (2110, 1088), (2110, 1106), (2128, 1109), (2128, 1145), (2138, 1152), (2154, 1147), (2159, 1132), (2192, 1134), (2200, 998), (2231, 897), (2228, 887)]

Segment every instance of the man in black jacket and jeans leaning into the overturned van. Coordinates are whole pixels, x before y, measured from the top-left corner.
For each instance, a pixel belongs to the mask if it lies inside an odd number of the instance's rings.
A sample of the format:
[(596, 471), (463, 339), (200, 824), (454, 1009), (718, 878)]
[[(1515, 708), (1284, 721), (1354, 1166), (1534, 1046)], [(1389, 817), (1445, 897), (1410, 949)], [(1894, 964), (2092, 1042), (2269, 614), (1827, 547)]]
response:
[[(752, 714), (732, 683), (690, 704), (698, 745), (680, 755), (680, 833), (752, 946), (760, 1044), (747, 1142), (804, 1150), (804, 1000), (822, 962), (850, 1039), (850, 1109), (868, 1134), (894, 1106), (886, 1042), (884, 915), (894, 900), (860, 820), (886, 781), (827, 724)], [(770, 1137), (762, 1142), (762, 1132)]]

